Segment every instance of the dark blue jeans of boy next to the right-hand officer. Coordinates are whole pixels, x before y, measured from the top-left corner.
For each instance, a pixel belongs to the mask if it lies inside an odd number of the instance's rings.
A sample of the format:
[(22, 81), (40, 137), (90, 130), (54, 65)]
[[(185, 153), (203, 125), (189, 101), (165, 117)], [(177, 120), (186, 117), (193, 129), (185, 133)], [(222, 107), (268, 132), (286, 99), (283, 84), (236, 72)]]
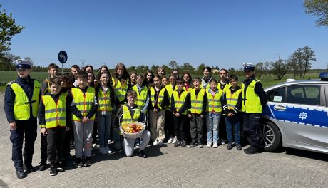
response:
[(235, 127), (235, 143), (240, 144), (240, 115), (225, 117), (225, 127), (227, 130), (227, 141), (233, 141), (232, 129)]

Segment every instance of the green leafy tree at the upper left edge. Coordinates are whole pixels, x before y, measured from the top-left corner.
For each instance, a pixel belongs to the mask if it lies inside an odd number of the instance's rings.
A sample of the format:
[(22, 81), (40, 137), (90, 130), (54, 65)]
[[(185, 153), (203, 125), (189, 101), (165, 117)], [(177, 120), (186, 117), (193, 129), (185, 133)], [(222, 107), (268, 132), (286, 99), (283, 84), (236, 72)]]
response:
[(6, 10), (1, 11), (0, 4), (0, 57), (4, 57), (4, 52), (9, 51), (9, 46), (11, 45), (11, 38), (18, 33), (24, 26), (16, 25), (15, 19), (13, 19), (12, 14), (6, 14)]

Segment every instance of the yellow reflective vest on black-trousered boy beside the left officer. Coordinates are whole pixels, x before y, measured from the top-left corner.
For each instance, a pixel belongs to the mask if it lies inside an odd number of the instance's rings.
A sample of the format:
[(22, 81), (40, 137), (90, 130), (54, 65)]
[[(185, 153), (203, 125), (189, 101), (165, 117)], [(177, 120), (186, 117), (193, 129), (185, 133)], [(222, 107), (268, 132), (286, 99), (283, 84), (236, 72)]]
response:
[(66, 126), (66, 96), (67, 93), (59, 95), (57, 103), (51, 95), (42, 96), (47, 129)]

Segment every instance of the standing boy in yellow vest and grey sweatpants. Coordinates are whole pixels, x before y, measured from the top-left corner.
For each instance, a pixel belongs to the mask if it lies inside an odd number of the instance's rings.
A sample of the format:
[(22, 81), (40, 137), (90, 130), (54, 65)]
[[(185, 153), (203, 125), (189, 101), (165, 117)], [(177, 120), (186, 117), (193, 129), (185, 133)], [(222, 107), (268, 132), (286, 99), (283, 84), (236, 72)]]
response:
[(76, 166), (89, 167), (92, 164), (92, 132), (98, 103), (95, 89), (87, 86), (88, 74), (85, 71), (78, 71), (76, 78), (77, 88), (71, 89)]

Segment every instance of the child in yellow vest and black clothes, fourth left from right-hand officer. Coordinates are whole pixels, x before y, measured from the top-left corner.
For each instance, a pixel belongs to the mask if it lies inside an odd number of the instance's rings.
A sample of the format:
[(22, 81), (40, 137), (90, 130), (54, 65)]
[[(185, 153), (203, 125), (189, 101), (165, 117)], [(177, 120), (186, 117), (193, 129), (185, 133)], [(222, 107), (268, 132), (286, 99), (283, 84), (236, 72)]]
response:
[(175, 136), (177, 141), (175, 142), (175, 147), (185, 147), (186, 138), (186, 122), (188, 119), (188, 108), (190, 104), (190, 95), (188, 91), (183, 89), (183, 81), (177, 81), (178, 90), (173, 90), (171, 97), (171, 111), (173, 113)]

